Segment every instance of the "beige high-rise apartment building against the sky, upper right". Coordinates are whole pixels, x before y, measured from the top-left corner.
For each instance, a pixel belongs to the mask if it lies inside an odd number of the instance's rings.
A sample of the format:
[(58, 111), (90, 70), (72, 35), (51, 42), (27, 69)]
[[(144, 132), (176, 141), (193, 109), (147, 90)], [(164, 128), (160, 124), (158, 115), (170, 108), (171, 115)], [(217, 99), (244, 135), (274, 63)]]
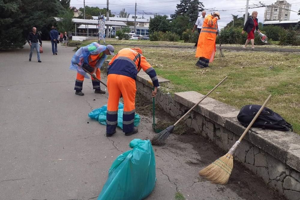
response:
[(287, 1), (276, 1), (274, 4), (265, 7), (265, 21), (287, 21), (291, 14), (292, 5)]

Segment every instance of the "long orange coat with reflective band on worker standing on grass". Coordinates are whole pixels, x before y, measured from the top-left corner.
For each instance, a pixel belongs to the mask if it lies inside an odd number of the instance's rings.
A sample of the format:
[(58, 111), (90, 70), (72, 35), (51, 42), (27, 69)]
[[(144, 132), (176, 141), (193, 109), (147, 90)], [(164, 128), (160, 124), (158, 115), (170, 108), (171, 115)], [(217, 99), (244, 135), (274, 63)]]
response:
[(196, 58), (204, 57), (213, 60), (214, 53), (216, 52), (216, 37), (217, 37), (217, 18), (208, 15), (205, 17), (202, 29), (199, 35)]

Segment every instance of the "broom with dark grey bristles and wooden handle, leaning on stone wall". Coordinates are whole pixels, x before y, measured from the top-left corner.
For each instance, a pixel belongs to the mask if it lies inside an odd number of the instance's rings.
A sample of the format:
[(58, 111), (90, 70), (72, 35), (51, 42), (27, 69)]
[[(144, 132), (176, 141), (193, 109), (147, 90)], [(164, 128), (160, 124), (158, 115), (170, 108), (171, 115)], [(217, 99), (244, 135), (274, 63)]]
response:
[(219, 82), (218, 85), (216, 85), (211, 91), (209, 91), (204, 97), (202, 97), (202, 99), (196, 103), (189, 111), (187, 111), (187, 113), (185, 113), (174, 125), (169, 126), (168, 128), (166, 128), (165, 130), (161, 131), (160, 133), (156, 134), (152, 139), (151, 139), (151, 143), (152, 145), (164, 145), (166, 139), (169, 137), (170, 133), (173, 132), (174, 127), (187, 115), (189, 114), (202, 100), (205, 99), (205, 97), (207, 97), (212, 91), (214, 91), (219, 85), (221, 85), (221, 83), (223, 83), (228, 76), (226, 76), (221, 82)]

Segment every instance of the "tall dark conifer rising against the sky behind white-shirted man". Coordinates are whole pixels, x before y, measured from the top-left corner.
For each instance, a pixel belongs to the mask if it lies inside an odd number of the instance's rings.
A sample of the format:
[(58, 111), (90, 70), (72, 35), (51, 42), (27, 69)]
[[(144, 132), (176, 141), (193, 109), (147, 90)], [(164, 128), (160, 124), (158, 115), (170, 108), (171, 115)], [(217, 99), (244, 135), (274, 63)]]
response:
[(175, 19), (178, 16), (188, 16), (190, 22), (195, 23), (199, 12), (204, 10), (204, 5), (199, 0), (181, 0), (176, 8), (175, 13), (171, 14), (171, 19)]

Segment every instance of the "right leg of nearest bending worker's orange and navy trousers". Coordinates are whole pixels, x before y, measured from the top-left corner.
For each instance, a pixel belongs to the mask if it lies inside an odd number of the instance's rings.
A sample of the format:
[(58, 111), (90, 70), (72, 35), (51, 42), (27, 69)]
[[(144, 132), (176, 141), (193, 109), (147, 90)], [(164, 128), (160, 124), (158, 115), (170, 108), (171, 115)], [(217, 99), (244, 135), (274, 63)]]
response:
[(123, 75), (118, 76), (118, 86), (124, 100), (123, 132), (129, 133), (134, 128), (135, 93), (137, 88), (134, 79)]

